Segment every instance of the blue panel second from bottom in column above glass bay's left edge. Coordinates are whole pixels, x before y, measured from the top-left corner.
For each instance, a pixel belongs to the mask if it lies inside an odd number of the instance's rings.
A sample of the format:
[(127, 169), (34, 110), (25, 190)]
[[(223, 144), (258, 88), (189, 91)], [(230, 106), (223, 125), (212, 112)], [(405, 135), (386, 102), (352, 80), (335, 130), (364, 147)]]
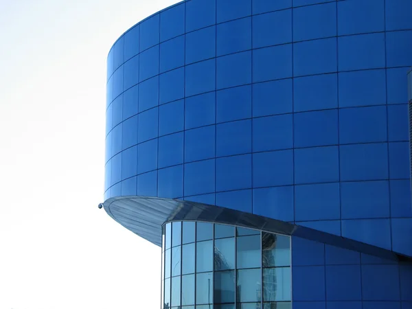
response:
[[(159, 138), (158, 167), (183, 163), (183, 132), (165, 135)], [(160, 178), (160, 174), (159, 174)]]

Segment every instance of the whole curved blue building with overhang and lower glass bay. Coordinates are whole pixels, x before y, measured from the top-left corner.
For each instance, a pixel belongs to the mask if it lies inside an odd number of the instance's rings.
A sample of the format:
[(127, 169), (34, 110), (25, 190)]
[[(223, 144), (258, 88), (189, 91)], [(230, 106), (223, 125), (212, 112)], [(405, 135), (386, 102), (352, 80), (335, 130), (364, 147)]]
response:
[(162, 309), (412, 309), (411, 12), (187, 0), (120, 36), (104, 209), (162, 247)]

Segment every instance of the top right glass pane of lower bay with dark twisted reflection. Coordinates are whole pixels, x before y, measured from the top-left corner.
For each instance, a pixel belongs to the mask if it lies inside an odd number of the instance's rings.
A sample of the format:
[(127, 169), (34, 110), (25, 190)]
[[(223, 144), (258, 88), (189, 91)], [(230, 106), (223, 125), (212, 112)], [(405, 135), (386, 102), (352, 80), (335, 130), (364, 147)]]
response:
[(290, 266), (290, 238), (262, 233), (262, 266)]

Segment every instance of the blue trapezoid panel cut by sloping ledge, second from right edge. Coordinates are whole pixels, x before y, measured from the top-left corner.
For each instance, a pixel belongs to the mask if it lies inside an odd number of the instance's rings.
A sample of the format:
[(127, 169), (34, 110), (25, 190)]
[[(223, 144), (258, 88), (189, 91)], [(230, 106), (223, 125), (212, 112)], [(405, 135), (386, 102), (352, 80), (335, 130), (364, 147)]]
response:
[(391, 250), (389, 219), (342, 220), (342, 236)]

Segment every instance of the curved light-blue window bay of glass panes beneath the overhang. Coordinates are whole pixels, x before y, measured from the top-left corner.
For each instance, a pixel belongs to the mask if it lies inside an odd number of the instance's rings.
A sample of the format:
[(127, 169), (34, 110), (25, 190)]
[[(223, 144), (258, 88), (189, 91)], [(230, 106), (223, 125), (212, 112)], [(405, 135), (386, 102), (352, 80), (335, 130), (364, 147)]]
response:
[(289, 236), (186, 221), (162, 239), (163, 309), (291, 308)]

